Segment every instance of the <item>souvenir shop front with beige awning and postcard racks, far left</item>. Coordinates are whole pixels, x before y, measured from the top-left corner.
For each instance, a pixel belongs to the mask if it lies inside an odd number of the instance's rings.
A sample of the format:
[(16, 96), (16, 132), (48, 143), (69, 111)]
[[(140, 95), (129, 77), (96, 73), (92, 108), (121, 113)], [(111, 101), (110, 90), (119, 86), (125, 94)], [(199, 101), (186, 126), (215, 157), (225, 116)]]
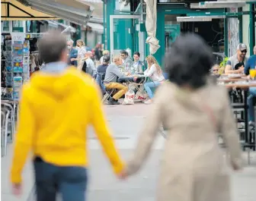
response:
[[(43, 36), (43, 26), (62, 27), (63, 31), (81, 34), (80, 26), (86, 26), (97, 2), (76, 0), (2, 0), (2, 87), (5, 99), (19, 100), (22, 83), (30, 80), (30, 74), (42, 66), (38, 57), (37, 39)], [(94, 9), (94, 8), (97, 9)], [(72, 27), (62, 20), (69, 20)], [(32, 27), (32, 28), (31, 28)], [(36, 30), (36, 31), (35, 31)], [(3, 33), (4, 32), (4, 33)], [(36, 32), (36, 33), (34, 33)], [(80, 38), (79, 38), (80, 39)]]

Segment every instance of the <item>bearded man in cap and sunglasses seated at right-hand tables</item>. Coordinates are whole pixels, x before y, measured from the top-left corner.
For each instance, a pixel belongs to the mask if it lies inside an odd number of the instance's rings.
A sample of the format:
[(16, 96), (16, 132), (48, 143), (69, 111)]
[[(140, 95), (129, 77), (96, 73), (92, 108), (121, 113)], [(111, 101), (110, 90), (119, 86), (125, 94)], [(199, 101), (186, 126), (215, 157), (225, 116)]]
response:
[(236, 54), (229, 58), (226, 63), (225, 74), (243, 74), (247, 62), (246, 53), (247, 46), (240, 43), (237, 46)]

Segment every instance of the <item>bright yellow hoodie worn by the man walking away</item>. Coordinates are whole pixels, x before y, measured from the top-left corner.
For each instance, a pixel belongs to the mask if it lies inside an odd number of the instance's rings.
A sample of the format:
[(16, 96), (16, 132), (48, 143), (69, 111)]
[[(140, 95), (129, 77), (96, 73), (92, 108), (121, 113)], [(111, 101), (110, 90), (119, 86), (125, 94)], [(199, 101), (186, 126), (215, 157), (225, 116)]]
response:
[(45, 162), (59, 166), (87, 166), (86, 128), (103, 146), (114, 172), (123, 170), (101, 107), (98, 86), (91, 77), (68, 68), (63, 74), (35, 74), (22, 90), (11, 182), (21, 182), (21, 171), (32, 149)]

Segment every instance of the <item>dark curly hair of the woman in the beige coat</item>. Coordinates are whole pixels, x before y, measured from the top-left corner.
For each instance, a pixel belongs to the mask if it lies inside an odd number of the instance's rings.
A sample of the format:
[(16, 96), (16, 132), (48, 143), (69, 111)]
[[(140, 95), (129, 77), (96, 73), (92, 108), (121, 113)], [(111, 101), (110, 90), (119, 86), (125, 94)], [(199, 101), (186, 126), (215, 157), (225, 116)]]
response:
[(178, 86), (189, 85), (194, 89), (204, 86), (212, 66), (213, 52), (210, 46), (192, 33), (179, 36), (165, 55), (168, 79)]

